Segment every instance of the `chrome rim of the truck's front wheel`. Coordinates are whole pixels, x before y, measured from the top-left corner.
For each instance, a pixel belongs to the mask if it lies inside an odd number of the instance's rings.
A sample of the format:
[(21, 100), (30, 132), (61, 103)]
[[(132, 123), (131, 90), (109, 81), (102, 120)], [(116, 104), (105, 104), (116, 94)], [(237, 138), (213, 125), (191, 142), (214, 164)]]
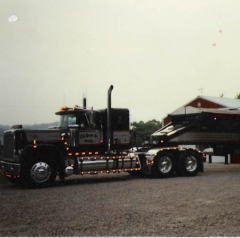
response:
[(45, 162), (34, 164), (30, 170), (31, 178), (37, 183), (46, 182), (51, 176), (51, 168)]

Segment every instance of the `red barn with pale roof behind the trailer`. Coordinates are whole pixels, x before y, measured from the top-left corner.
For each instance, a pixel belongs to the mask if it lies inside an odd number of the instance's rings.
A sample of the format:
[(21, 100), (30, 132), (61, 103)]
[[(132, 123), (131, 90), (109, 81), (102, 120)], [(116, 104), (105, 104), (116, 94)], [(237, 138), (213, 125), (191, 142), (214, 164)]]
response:
[[(197, 96), (193, 100), (177, 108), (170, 115), (176, 114), (190, 114), (199, 112), (201, 109), (218, 109), (218, 108), (240, 108), (240, 99), (223, 98), (223, 97), (210, 97), (210, 96)], [(163, 119), (163, 126), (171, 122), (169, 116)], [(216, 159), (218, 161), (218, 159)], [(240, 152), (229, 155), (230, 163), (240, 163)]]

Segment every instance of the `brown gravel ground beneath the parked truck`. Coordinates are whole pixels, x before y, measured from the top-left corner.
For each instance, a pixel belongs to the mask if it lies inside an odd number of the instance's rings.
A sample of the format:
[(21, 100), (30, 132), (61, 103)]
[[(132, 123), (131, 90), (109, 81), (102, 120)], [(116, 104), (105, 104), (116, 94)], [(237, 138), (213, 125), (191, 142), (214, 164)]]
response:
[(0, 236), (240, 236), (240, 164), (195, 177), (69, 177), (53, 187), (0, 186)]

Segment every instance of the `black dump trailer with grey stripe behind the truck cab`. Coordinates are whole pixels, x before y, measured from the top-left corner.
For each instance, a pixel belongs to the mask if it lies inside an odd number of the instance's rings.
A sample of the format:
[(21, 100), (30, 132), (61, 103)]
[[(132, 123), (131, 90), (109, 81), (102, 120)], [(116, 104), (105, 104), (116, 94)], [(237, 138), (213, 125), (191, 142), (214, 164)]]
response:
[(219, 155), (240, 149), (239, 109), (202, 109), (170, 117), (171, 123), (150, 136), (152, 145), (199, 145)]

